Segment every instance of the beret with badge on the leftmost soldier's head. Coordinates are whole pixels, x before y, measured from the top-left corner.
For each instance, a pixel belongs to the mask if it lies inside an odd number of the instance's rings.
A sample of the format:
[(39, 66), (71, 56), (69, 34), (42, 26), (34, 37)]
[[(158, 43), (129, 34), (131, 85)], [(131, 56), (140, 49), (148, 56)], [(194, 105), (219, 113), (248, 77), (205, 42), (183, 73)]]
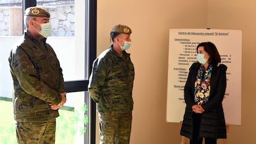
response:
[(25, 15), (30, 17), (50, 17), (49, 12), (42, 7), (28, 7), (25, 10)]

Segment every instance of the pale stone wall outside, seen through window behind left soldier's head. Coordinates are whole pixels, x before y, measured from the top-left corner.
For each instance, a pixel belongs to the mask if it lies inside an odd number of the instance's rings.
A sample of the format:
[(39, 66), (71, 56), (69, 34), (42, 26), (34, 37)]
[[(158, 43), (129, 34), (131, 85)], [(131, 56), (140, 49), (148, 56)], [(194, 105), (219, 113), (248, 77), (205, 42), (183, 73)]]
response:
[[(51, 36), (74, 36), (75, 35), (75, 5), (43, 6), (50, 12), (52, 27)], [(17, 14), (20, 9), (20, 14)], [(12, 15), (13, 11), (15, 15)], [(20, 15), (20, 16), (19, 16)], [(0, 36), (22, 35), (22, 7), (0, 7)], [(19, 23), (17, 23), (19, 22)], [(14, 27), (11, 27), (14, 25)], [(20, 25), (20, 27), (19, 27)], [(14, 32), (19, 31), (19, 32)], [(18, 34), (17, 34), (18, 33)]]

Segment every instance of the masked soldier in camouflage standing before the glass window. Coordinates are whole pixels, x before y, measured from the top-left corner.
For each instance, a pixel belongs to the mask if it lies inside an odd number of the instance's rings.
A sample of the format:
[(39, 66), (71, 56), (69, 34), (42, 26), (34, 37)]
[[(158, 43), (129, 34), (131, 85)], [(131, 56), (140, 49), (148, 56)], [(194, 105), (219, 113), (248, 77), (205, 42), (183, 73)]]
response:
[(54, 143), (58, 109), (66, 103), (62, 69), (53, 48), (49, 12), (40, 7), (25, 11), (26, 31), (9, 56), (14, 81), (17, 142)]

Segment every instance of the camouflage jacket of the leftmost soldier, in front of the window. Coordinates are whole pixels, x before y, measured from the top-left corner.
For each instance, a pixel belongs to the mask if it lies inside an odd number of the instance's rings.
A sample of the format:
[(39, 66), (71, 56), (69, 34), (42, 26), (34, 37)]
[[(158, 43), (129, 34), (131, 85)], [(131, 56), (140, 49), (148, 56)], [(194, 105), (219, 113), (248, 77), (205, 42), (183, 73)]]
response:
[(62, 69), (46, 39), (36, 40), (25, 32), (9, 56), (14, 82), (14, 116), (18, 122), (45, 122), (59, 112), (49, 104), (61, 103)]

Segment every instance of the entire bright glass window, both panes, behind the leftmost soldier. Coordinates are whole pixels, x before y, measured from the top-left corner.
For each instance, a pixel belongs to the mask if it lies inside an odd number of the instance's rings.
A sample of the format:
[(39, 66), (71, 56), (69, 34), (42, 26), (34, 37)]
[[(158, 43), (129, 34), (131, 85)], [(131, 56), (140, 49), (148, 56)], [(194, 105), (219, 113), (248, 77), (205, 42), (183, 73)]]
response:
[[(15, 143), (15, 122), (12, 108), (12, 78), (8, 57), (12, 46), (23, 35), (22, 1), (0, 0), (0, 142)], [(49, 43), (63, 69), (65, 81), (87, 80), (87, 20), (85, 4), (79, 0), (38, 0), (37, 6), (47, 9), (53, 32)], [(79, 15), (79, 17), (75, 17)], [(77, 30), (75, 32), (75, 30)], [(87, 87), (84, 85), (84, 87)], [(90, 98), (87, 91), (67, 93), (67, 103), (59, 110), (56, 144), (89, 143), (88, 109)]]

